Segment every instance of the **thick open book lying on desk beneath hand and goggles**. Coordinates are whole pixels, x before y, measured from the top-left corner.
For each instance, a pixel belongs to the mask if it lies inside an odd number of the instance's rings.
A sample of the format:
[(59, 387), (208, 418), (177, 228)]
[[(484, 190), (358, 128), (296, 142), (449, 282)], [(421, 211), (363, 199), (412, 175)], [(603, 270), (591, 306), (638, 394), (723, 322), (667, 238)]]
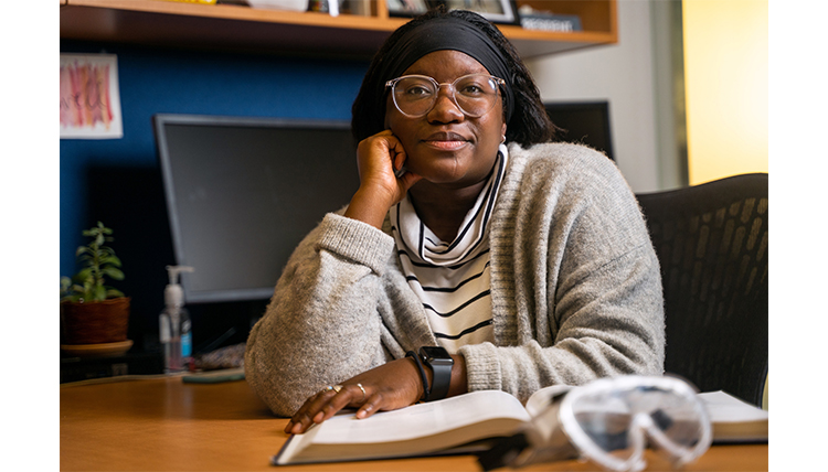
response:
[[(561, 388), (552, 386), (535, 391), (526, 407), (507, 393), (481, 390), (381, 411), (362, 420), (355, 419), (353, 411), (342, 412), (304, 435), (291, 436), (273, 463), (471, 453), (480, 450), (474, 448), (475, 441), (518, 432)], [(714, 441), (718, 435), (726, 437), (728, 442), (767, 440), (767, 411), (723, 391), (701, 394), (701, 398), (713, 422)]]

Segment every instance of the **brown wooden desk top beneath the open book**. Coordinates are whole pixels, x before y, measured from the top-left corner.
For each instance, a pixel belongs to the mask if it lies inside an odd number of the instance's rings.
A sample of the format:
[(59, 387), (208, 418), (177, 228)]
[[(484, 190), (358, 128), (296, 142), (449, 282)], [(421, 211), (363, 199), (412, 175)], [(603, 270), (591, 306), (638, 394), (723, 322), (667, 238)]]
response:
[[(287, 419), (246, 382), (184, 384), (180, 377), (61, 386), (63, 471), (479, 471), (473, 457), (274, 468)], [(648, 470), (669, 470), (647, 451)], [(767, 470), (767, 444), (718, 446), (687, 471)], [(524, 471), (591, 471), (564, 461)]]

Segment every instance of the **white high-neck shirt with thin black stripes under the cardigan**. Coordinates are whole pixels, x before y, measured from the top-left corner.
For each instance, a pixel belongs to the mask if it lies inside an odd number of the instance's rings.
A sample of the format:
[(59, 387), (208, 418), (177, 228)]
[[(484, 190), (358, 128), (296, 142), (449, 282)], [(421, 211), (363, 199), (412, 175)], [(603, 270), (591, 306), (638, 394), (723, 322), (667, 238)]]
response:
[(500, 144), (495, 171), (450, 244), (423, 224), (408, 197), (391, 207), (403, 271), (437, 341), (452, 354), (466, 344), (493, 341), (488, 224), (507, 160)]

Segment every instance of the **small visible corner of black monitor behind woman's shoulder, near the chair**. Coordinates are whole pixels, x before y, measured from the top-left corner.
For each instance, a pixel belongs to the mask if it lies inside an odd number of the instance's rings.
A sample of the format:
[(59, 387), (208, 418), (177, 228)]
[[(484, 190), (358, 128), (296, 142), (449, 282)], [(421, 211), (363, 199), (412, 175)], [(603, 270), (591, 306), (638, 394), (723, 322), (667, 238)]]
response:
[(552, 122), (562, 129), (559, 141), (587, 144), (615, 160), (609, 129), (609, 103), (559, 101), (546, 103), (544, 106)]

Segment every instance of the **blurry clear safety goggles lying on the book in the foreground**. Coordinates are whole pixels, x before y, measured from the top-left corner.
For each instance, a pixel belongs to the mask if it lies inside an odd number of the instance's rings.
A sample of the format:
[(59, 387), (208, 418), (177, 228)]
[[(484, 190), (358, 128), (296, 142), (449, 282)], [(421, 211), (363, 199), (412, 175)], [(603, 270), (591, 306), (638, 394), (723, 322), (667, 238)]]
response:
[(650, 447), (680, 468), (701, 457), (712, 441), (696, 390), (678, 378), (647, 376), (562, 389), (521, 436), (499, 452), (503, 465), (581, 457), (608, 471), (637, 472), (646, 466), (644, 451)]

